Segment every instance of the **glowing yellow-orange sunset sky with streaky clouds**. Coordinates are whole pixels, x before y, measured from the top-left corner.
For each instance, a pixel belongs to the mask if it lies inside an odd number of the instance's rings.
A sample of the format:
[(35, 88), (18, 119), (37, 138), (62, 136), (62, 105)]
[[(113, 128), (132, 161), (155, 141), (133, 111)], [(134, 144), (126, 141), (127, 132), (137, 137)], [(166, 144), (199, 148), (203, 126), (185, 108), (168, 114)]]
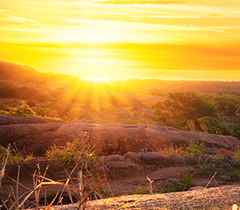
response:
[(240, 81), (240, 1), (2, 0), (0, 59), (88, 78)]

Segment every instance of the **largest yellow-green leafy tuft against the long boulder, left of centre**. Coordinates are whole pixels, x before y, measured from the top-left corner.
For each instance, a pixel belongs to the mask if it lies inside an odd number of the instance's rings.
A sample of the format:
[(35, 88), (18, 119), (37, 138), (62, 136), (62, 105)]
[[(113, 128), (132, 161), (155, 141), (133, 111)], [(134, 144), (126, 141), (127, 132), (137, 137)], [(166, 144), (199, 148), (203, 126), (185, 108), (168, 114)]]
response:
[(94, 148), (91, 144), (86, 143), (83, 145), (79, 139), (74, 140), (74, 142), (68, 142), (66, 146), (51, 146), (46, 151), (45, 156), (61, 160), (66, 164), (76, 164), (79, 162), (90, 164), (96, 159)]

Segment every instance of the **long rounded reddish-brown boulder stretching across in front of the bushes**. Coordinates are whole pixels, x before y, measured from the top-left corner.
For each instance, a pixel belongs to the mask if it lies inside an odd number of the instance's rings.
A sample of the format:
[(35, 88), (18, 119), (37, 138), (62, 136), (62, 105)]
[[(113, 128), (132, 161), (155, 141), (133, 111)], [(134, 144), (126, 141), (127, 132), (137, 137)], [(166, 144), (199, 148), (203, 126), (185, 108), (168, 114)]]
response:
[[(0, 119), (1, 117), (6, 116), (0, 115)], [(204, 142), (208, 148), (215, 149), (240, 147), (240, 141), (232, 136), (184, 132), (166, 126), (123, 127), (83, 122), (64, 124), (58, 121), (40, 124), (37, 118), (36, 122), (38, 123), (1, 125), (0, 144), (7, 147), (9, 143), (15, 142), (23, 154), (34, 155), (42, 155), (52, 145), (66, 145), (76, 139), (83, 144), (90, 142), (97, 155), (161, 152), (172, 147), (187, 146), (189, 141)]]

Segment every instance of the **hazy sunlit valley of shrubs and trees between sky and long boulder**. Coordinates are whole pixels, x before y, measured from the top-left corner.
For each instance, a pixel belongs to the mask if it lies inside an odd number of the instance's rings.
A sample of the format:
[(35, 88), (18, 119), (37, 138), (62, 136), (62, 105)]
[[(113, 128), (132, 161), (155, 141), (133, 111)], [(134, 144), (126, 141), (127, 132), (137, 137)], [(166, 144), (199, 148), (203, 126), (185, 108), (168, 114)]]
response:
[(25, 65), (1, 62), (0, 66), (3, 114), (99, 124), (158, 123), (240, 138), (240, 82), (130, 78), (94, 83)]

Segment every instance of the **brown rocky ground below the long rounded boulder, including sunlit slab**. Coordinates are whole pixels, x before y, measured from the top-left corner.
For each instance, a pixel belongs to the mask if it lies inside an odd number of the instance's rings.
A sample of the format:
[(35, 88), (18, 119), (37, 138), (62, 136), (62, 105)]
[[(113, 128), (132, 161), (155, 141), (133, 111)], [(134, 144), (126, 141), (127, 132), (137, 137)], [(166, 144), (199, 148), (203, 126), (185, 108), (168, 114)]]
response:
[[(202, 156), (201, 162), (204, 163), (206, 158)], [(232, 161), (240, 164), (239, 161)], [(101, 156), (96, 161), (94, 170), (89, 168), (91, 176), (85, 178), (87, 180), (93, 177), (96, 181), (95, 185), (103, 178), (107, 181), (97, 191), (98, 201), (88, 202), (88, 209), (154, 209), (154, 207), (155, 209), (209, 209), (210, 207), (224, 209), (234, 203), (240, 204), (239, 176), (231, 176), (226, 171), (218, 171), (214, 168), (221, 164), (228, 165), (229, 160), (209, 158), (209, 164), (204, 166), (204, 164), (198, 165), (197, 160), (192, 157), (172, 156), (169, 158), (160, 153), (131, 152), (124, 156)], [(8, 195), (11, 195), (14, 200), (13, 192), (16, 192), (17, 185), (12, 179), (17, 179), (18, 165), (7, 165), (0, 192), (2, 200), (6, 200)], [(66, 167), (61, 161), (42, 160), (21, 163), (19, 195), (25, 194), (26, 196), (31, 189), (34, 189), (32, 182), (34, 171), (37, 171), (39, 167), (41, 174), (44, 174), (47, 166), (49, 167), (46, 177), (55, 181), (61, 180), (62, 183), (65, 183), (68, 178), (67, 174), (70, 174), (73, 168), (73, 166)], [(71, 176), (75, 187), (78, 187), (75, 179), (78, 177), (78, 172), (79, 169)], [(86, 174), (86, 171), (84, 173)], [(183, 177), (191, 177), (191, 181), (184, 183)], [(12, 191), (10, 186), (12, 186)], [(45, 194), (42, 190), (40, 201), (43, 201), (49, 192), (56, 193), (58, 190), (58, 188), (51, 188)], [(167, 193), (172, 190), (185, 190), (186, 192)], [(190, 192), (191, 190), (193, 192)], [(144, 193), (148, 194), (143, 195)], [(63, 195), (62, 202), (70, 202), (66, 190)], [(124, 197), (121, 197), (122, 195)], [(104, 199), (107, 197), (108, 199)], [(94, 198), (91, 197), (91, 199)], [(35, 201), (35, 197), (31, 196), (25, 206), (34, 207)], [(44, 205), (44, 203), (41, 204)], [(62, 205), (54, 208), (76, 209), (77, 207), (76, 205)]]

